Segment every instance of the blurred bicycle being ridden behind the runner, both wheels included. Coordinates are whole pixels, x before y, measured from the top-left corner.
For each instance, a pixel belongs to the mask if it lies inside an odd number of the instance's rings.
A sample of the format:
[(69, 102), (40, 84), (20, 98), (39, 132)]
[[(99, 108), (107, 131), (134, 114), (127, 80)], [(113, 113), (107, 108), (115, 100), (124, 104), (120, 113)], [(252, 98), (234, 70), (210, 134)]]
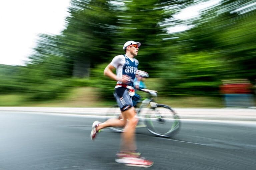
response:
[[(146, 74), (143, 75), (148, 77)], [(145, 99), (138, 94), (133, 96), (133, 105), (140, 117), (136, 128), (147, 128), (152, 134), (160, 137), (171, 137), (176, 134), (180, 128), (177, 113), (171, 107), (156, 102), (157, 91), (141, 88), (139, 90), (148, 93), (148, 96)], [(113, 105), (107, 111), (106, 119), (112, 117), (122, 120), (121, 115), (120, 107)], [(110, 129), (115, 132), (124, 131), (123, 127), (110, 127)]]

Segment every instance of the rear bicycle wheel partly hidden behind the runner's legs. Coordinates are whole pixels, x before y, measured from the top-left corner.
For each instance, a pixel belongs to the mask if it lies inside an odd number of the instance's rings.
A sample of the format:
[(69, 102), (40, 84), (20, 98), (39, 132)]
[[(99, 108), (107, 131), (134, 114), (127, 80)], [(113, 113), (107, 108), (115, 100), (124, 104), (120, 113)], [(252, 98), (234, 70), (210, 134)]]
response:
[[(108, 109), (106, 113), (106, 120), (111, 118), (123, 119), (122, 114), (120, 111), (120, 107), (118, 105), (113, 105), (111, 108)], [(111, 130), (115, 132), (123, 132), (123, 127), (109, 127)]]

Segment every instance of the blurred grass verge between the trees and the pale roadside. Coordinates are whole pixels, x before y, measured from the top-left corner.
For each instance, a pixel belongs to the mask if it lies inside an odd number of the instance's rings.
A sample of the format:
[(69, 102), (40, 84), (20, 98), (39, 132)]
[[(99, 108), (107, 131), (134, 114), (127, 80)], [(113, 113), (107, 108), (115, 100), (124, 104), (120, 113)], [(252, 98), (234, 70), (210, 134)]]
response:
[[(146, 96), (146, 94), (141, 94)], [(113, 100), (105, 101), (93, 87), (73, 88), (69, 94), (51, 101), (29, 101), (28, 97), (20, 94), (0, 95), (0, 106), (24, 106), (24, 107), (110, 107), (116, 104)], [(169, 105), (173, 108), (221, 108), (223, 101), (218, 97), (159, 96), (158, 103)]]

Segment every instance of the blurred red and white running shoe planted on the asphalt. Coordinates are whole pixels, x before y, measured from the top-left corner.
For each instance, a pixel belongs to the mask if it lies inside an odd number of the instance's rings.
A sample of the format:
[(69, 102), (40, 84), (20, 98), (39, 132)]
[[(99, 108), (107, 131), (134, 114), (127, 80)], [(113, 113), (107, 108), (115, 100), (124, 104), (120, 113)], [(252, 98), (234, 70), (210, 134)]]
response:
[(117, 163), (123, 163), (127, 166), (137, 166), (137, 167), (144, 167), (149, 168), (153, 165), (153, 161), (146, 160), (143, 157), (123, 157), (123, 158), (116, 158)]

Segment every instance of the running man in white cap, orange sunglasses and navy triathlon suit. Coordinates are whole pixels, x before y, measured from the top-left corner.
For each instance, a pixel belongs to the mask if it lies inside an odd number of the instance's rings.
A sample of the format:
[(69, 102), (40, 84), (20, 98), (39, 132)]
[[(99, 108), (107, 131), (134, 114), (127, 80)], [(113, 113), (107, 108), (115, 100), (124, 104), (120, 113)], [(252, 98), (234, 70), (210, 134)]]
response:
[[(104, 75), (117, 81), (114, 97), (120, 106), (123, 119), (112, 118), (103, 123), (95, 121), (92, 124), (91, 139), (95, 139), (100, 129), (124, 127), (120, 152), (117, 153), (116, 162), (127, 166), (150, 167), (153, 165), (153, 161), (140, 157), (140, 153), (136, 152), (135, 142), (135, 128), (138, 118), (133, 106), (132, 96), (135, 94), (133, 85), (139, 61), (134, 57), (138, 55), (140, 45), (140, 42), (125, 42), (123, 45), (125, 54), (115, 56), (105, 68)], [(116, 69), (116, 74), (112, 71), (113, 69)]]

